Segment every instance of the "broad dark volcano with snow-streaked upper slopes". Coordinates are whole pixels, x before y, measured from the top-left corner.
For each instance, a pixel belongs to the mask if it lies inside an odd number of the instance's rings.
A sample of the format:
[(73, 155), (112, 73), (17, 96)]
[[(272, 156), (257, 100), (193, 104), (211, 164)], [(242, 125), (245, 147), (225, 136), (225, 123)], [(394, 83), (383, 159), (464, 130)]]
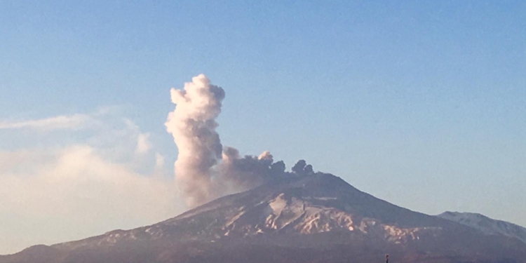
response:
[(14, 262), (526, 262), (499, 231), (401, 208), (325, 173), (283, 177), (131, 230), (36, 245)]

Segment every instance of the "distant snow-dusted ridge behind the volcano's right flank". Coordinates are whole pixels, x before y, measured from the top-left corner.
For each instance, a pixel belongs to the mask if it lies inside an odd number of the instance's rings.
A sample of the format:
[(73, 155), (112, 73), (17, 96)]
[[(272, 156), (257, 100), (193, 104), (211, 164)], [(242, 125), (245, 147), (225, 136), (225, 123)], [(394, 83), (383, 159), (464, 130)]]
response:
[(526, 228), (510, 222), (494, 220), (478, 213), (459, 213), (447, 211), (438, 217), (464, 224), (468, 227), (483, 231), (488, 235), (503, 235), (526, 243)]

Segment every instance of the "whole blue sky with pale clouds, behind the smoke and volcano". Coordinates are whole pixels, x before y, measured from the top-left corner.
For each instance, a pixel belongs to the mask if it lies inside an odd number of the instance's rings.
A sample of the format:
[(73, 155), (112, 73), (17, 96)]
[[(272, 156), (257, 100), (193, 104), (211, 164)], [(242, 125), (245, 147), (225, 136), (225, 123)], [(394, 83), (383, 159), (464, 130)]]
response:
[(169, 90), (224, 145), (526, 226), (525, 1), (0, 1), (0, 254), (185, 208)]

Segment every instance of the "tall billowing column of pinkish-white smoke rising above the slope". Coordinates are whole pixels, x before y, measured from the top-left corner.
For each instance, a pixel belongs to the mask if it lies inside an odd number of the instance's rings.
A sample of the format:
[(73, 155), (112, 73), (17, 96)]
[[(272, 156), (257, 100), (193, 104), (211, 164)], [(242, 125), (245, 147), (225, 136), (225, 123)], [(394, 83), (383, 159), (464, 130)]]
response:
[(187, 204), (198, 205), (213, 196), (212, 168), (221, 159), (222, 145), (215, 131), (224, 90), (210, 85), (201, 74), (184, 83), (183, 90), (170, 90), (175, 110), (165, 125), (179, 149), (175, 175)]

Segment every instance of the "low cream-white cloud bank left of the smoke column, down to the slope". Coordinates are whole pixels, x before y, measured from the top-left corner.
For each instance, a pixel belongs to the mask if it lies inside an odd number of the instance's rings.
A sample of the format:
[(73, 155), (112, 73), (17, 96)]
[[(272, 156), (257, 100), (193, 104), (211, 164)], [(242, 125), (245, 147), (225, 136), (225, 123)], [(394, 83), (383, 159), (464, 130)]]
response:
[[(34, 166), (31, 159), (18, 158), (20, 152), (11, 155), (15, 156), (11, 168)], [(30, 242), (15, 247), (0, 243), (1, 253), (152, 224), (182, 210), (172, 180), (140, 175), (122, 164), (105, 161), (86, 145), (62, 149), (36, 166), (31, 173), (10, 172), (5, 167), (0, 172), (0, 222), (7, 222), (9, 217), (29, 219), (12, 225), (3, 223), (0, 233), (5, 227), (18, 230), (18, 238)], [(27, 232), (28, 223), (39, 224), (41, 229)], [(45, 234), (51, 229), (56, 234)]]

